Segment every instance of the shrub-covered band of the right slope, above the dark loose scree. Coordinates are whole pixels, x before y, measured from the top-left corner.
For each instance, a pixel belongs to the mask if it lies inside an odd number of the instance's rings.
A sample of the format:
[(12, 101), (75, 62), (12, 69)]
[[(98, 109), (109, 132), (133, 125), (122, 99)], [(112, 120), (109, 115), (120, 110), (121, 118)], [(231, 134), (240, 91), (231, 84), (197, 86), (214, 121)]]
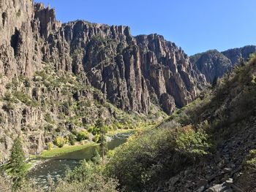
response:
[(107, 165), (108, 174), (127, 191), (141, 191), (216, 155), (219, 146), (255, 116), (255, 74), (252, 55), (159, 128), (119, 147)]

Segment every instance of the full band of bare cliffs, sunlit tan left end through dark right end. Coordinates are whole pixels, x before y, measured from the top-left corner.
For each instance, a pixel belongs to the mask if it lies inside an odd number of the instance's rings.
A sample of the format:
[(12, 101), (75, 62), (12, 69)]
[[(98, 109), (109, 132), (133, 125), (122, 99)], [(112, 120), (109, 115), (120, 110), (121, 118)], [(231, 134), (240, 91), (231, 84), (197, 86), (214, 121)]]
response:
[(7, 40), (1, 71), (10, 77), (31, 75), (45, 61), (77, 74), (121, 110), (145, 114), (151, 102), (168, 114), (188, 104), (197, 96), (196, 78), (204, 81), (184, 51), (162, 36), (132, 37), (127, 26), (80, 20), (61, 25), (54, 9), (13, 2), (4, 1), (2, 31), (10, 33), (1, 37)]

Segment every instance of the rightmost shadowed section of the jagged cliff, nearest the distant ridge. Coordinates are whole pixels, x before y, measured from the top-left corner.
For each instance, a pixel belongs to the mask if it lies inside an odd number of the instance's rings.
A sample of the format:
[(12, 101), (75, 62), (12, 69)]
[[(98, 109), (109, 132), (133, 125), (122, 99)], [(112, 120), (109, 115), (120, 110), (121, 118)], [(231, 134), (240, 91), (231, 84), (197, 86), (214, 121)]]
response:
[[(151, 97), (157, 96), (160, 105), (172, 101), (172, 107), (165, 112), (172, 112), (174, 107), (182, 107), (197, 96), (196, 80), (205, 82), (204, 77), (192, 69), (188, 56), (174, 43), (167, 42), (157, 34), (135, 37), (140, 47), (140, 66), (144, 77), (151, 87)], [(165, 96), (170, 99), (164, 101)], [(166, 105), (165, 105), (166, 106)], [(170, 106), (168, 102), (167, 106)], [(165, 107), (166, 108), (166, 107)]]

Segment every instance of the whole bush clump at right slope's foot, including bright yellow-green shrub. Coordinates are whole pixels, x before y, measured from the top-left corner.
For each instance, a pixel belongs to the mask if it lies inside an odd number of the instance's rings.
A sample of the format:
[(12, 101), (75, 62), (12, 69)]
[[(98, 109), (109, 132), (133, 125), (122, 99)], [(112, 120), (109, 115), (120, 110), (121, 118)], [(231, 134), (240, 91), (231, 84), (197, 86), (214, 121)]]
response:
[(116, 148), (106, 172), (128, 191), (140, 191), (159, 177), (164, 180), (191, 166), (207, 153), (207, 135), (191, 126), (180, 129), (154, 128), (130, 137)]

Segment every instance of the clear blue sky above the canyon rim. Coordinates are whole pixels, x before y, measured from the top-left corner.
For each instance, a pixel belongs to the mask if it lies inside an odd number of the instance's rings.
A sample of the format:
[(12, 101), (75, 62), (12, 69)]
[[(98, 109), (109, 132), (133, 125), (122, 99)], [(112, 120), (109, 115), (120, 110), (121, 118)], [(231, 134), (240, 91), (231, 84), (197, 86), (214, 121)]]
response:
[[(39, 0), (36, 0), (39, 1)], [(256, 45), (255, 0), (41, 0), (62, 23), (83, 19), (162, 34), (188, 55)]]

